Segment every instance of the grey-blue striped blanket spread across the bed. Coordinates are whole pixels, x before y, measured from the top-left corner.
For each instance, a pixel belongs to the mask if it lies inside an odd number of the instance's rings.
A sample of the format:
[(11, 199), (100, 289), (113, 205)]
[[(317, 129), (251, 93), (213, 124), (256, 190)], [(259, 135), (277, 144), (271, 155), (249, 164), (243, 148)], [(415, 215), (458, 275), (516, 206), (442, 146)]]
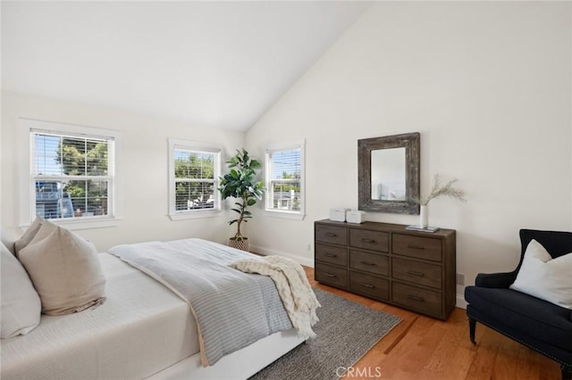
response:
[(201, 239), (117, 245), (109, 253), (189, 302), (204, 366), (292, 328), (273, 281), (228, 265), (254, 255)]

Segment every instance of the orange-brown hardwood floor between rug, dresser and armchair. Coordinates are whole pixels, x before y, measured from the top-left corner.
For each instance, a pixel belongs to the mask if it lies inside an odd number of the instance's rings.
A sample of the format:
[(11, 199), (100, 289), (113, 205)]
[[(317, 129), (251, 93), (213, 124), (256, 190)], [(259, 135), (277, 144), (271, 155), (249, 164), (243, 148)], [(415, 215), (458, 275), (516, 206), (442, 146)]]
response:
[[(455, 309), (447, 321), (425, 317), (314, 280), (314, 268), (305, 267), (310, 285), (348, 300), (399, 316), (401, 323), (375, 344), (345, 379), (559, 379), (559, 365), (522, 344), (477, 324), (476, 345), (468, 338), (467, 315)], [(376, 377), (376, 374), (380, 376)]]

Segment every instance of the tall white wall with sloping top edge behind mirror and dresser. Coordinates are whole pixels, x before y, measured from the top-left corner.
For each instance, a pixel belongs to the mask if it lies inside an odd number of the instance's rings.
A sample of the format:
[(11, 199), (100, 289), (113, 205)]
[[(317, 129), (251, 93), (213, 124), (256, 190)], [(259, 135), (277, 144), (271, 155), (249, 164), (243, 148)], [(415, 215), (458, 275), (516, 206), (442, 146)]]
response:
[(258, 210), (252, 244), (311, 262), (313, 222), (334, 206), (357, 208), (357, 139), (408, 132), (421, 133), (422, 193), (435, 173), (467, 191), (467, 203), (429, 205), (431, 225), (458, 231), (467, 285), (515, 268), (519, 228), (571, 230), (571, 11), (569, 2), (374, 4), (248, 131), (259, 157), (265, 144), (307, 139), (306, 219)]

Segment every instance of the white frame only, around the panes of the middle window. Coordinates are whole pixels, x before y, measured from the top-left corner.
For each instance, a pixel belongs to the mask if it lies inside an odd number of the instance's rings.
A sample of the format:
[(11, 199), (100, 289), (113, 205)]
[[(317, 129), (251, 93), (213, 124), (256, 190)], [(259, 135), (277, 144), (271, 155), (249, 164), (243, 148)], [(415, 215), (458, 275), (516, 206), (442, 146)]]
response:
[[(218, 145), (198, 143), (196, 141), (183, 140), (180, 138), (168, 138), (169, 145), (169, 218), (171, 220), (214, 218), (222, 215), (221, 193), (217, 190), (220, 183), (222, 152)], [(214, 208), (188, 211), (176, 209), (176, 178), (175, 178), (175, 149), (182, 149), (196, 153), (214, 153)]]

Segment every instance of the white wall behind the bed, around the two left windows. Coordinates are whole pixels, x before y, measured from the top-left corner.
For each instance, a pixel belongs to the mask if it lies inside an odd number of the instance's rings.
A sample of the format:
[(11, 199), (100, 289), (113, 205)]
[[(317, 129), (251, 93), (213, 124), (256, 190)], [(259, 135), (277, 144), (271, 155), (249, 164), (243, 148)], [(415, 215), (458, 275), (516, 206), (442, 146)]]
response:
[[(17, 227), (19, 217), (19, 153), (17, 119), (55, 121), (122, 131), (118, 152), (123, 186), (119, 227), (82, 229), (99, 251), (115, 244), (203, 237), (223, 243), (231, 236), (228, 211), (215, 218), (172, 221), (168, 213), (167, 137), (223, 147), (223, 160), (244, 145), (244, 134), (200, 128), (172, 120), (157, 120), (119, 110), (3, 92), (2, 209), (3, 227)], [(226, 156), (226, 157), (224, 157)], [(121, 200), (118, 200), (121, 202)]]

